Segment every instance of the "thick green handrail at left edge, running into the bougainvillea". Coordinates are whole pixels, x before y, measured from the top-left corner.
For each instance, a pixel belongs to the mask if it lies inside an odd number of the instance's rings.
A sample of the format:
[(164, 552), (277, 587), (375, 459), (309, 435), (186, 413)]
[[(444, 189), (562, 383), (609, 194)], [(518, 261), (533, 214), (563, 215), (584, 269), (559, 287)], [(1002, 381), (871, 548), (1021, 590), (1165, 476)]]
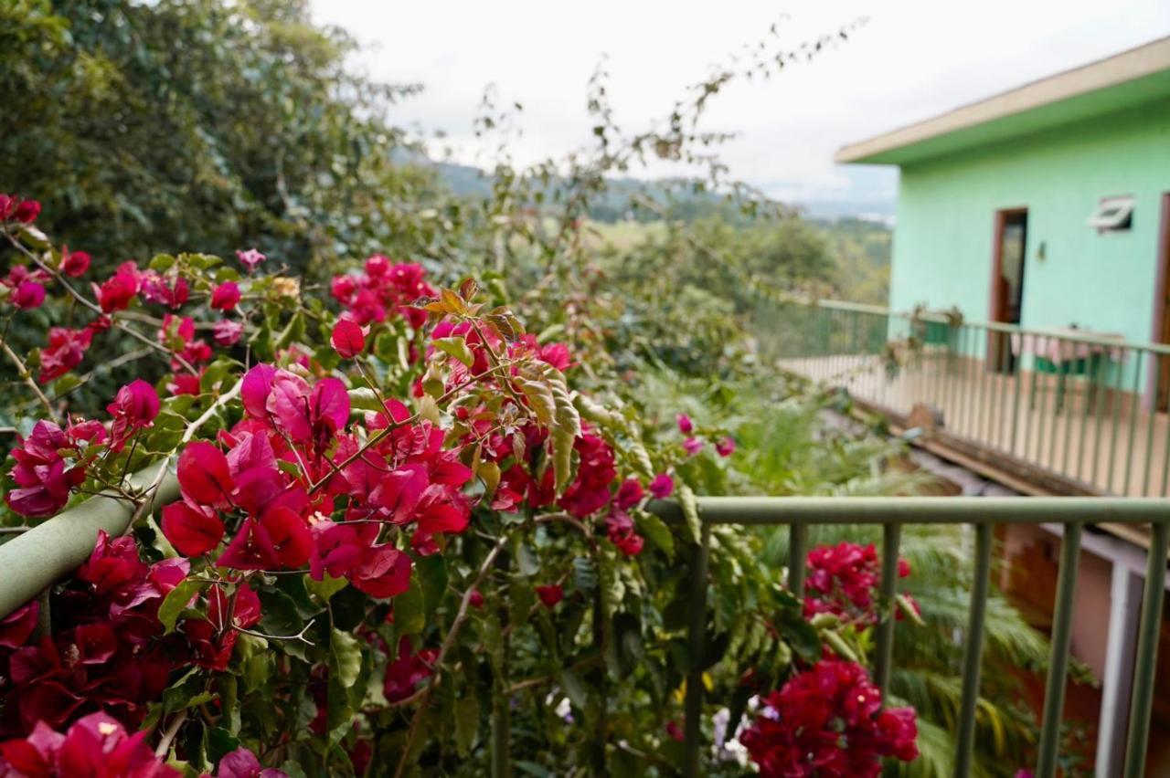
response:
[[(131, 491), (145, 492), (166, 461), (150, 465), (129, 479)], [(179, 481), (167, 473), (153, 494), (151, 509), (179, 498)], [(76, 570), (94, 553), (97, 533), (126, 532), (135, 505), (102, 493), (21, 533), (0, 546), (0, 619)]]

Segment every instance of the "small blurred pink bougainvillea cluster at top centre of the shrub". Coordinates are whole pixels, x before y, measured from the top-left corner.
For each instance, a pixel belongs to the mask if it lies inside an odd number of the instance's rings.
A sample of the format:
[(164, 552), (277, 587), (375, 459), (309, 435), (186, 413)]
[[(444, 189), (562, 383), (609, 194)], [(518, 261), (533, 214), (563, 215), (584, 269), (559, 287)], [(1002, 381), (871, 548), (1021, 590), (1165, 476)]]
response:
[(366, 259), (364, 272), (333, 277), (332, 293), (346, 315), (359, 325), (386, 321), (388, 315), (397, 314), (418, 329), (427, 314), (412, 304), (422, 297), (434, 297), (435, 290), (427, 284), (422, 265), (391, 264), (379, 253)]

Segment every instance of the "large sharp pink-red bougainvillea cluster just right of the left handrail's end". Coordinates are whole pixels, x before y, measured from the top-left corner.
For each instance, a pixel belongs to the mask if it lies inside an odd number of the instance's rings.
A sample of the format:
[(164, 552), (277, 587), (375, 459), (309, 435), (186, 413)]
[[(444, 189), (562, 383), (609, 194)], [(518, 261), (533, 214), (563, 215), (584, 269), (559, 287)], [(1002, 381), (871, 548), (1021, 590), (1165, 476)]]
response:
[[(163, 512), (163, 532), (179, 553), (208, 554), (227, 537), (220, 567), (308, 564), (318, 581), (328, 572), (381, 598), (405, 591), (411, 575), (407, 554), (377, 542), (384, 523), (412, 528), (421, 554), (467, 527), (470, 500), (461, 487), (470, 468), (457, 449), (442, 447), (441, 429), (410, 422), (401, 403), (366, 417), (365, 429), (381, 437), (363, 450), (347, 431), (350, 398), (338, 378), (310, 384), (259, 364), (243, 377), (241, 398), (243, 421), (220, 436), (227, 453), (194, 442), (179, 457), (183, 499)], [(344, 517), (325, 519), (343, 494)]]

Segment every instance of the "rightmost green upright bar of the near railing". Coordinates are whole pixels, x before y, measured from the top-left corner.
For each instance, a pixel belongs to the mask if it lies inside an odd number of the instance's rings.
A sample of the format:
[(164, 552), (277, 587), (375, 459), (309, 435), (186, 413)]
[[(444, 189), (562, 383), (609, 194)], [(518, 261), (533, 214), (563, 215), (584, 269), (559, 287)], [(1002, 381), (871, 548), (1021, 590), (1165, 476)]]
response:
[(1145, 749), (1150, 738), (1150, 710), (1154, 707), (1154, 674), (1162, 632), (1162, 600), (1165, 597), (1166, 550), (1170, 525), (1155, 525), (1147, 557), (1145, 592), (1142, 595), (1142, 621), (1134, 657), (1134, 690), (1129, 702), (1129, 731), (1126, 734), (1126, 778), (1141, 778), (1145, 771)]

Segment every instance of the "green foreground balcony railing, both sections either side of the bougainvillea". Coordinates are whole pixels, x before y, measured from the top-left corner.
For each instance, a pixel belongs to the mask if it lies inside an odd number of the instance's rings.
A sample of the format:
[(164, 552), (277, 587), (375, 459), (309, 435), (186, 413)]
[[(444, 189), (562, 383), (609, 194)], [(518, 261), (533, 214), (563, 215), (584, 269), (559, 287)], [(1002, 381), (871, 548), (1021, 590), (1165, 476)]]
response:
[[(157, 507), (178, 495), (173, 475), (160, 477), (157, 465), (132, 477), (132, 486)], [(147, 486), (149, 485), (149, 486)], [(113, 495), (99, 495), (16, 535), (0, 544), (0, 619), (55, 582), (68, 576), (92, 551), (98, 529), (125, 532), (135, 505)], [(652, 509), (673, 521), (682, 520), (677, 502), (652, 503)], [(1086, 526), (1149, 526), (1144, 593), (1137, 633), (1129, 718), (1124, 750), (1126, 778), (1143, 774), (1154, 699), (1162, 606), (1166, 585), (1166, 553), (1170, 547), (1170, 501), (1119, 498), (734, 498), (698, 499), (701, 541), (693, 546), (689, 641), (693, 657), (702, 657), (707, 635), (708, 560), (711, 527), (716, 525), (787, 525), (787, 585), (804, 591), (808, 528), (815, 525), (881, 525), (881, 613), (876, 627), (874, 680), (889, 689), (894, 655), (895, 623), (890, 604), (897, 596), (897, 557), (906, 525), (969, 525), (975, 535), (972, 586), (966, 628), (955, 640), (964, 651), (963, 692), (955, 738), (955, 774), (971, 772), (976, 715), (979, 699), (979, 667), (984, 644), (984, 618), (990, 589), (992, 537), (997, 525), (1064, 527), (1057, 595), (1053, 605), (1051, 657), (1045, 686), (1044, 715), (1038, 744), (1037, 774), (1057, 773), (1060, 720), (1069, 662), (1069, 644), (1076, 593), (1081, 537)], [(909, 635), (908, 635), (909, 637)], [(913, 639), (913, 638), (911, 638)], [(701, 770), (703, 681), (697, 668), (687, 679), (686, 773)], [(494, 752), (491, 764), (505, 774), (507, 750)]]

